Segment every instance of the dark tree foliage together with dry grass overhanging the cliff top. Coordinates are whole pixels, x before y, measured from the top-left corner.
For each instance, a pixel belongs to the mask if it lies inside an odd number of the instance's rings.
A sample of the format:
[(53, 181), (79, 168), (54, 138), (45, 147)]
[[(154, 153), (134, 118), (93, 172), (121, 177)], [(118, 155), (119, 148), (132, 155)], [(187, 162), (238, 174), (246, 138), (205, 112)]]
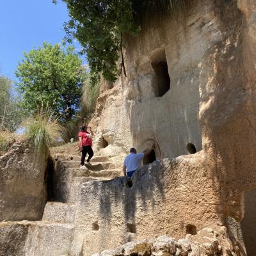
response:
[[(108, 81), (120, 74), (116, 63), (122, 56), (122, 35), (136, 35), (147, 13), (180, 8), (188, 0), (62, 0), (70, 20), (65, 23), (67, 40), (79, 40), (92, 73), (102, 72)], [(57, 3), (56, 0), (52, 0)], [(166, 12), (167, 13), (167, 12)], [(124, 68), (124, 61), (122, 67)], [(125, 70), (125, 69), (124, 69)]]

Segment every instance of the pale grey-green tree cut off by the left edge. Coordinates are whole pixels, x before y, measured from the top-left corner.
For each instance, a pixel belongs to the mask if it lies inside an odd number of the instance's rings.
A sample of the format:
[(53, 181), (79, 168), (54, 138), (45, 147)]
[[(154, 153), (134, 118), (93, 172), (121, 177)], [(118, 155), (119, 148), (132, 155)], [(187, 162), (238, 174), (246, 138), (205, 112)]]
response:
[(13, 132), (19, 127), (24, 114), (19, 101), (12, 93), (12, 81), (0, 76), (0, 130)]

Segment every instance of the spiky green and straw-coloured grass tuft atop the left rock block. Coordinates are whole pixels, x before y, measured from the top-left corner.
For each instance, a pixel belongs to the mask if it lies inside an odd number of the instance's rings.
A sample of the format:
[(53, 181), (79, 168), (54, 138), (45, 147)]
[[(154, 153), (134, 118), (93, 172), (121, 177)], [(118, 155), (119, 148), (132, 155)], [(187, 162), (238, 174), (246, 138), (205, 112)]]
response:
[(61, 127), (58, 116), (47, 108), (41, 108), (38, 113), (24, 121), (26, 138), (33, 144), (36, 150), (47, 150), (52, 145), (57, 145), (62, 138), (63, 127)]

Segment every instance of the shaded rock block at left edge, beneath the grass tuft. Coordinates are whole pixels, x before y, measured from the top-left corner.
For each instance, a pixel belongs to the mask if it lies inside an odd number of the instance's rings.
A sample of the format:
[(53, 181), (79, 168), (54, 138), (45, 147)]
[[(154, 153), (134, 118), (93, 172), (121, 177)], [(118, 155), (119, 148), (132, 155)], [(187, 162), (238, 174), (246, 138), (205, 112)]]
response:
[(0, 157), (0, 221), (40, 220), (47, 200), (47, 152), (26, 142)]

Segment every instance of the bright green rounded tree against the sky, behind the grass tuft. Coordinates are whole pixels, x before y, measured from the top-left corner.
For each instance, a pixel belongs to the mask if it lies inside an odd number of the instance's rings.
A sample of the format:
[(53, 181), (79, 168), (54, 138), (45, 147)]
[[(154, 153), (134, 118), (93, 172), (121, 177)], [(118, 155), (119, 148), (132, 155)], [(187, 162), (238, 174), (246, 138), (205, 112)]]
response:
[(44, 42), (42, 47), (24, 52), (15, 72), (22, 106), (31, 112), (49, 106), (63, 121), (71, 120), (79, 108), (83, 72), (74, 47), (64, 49)]

